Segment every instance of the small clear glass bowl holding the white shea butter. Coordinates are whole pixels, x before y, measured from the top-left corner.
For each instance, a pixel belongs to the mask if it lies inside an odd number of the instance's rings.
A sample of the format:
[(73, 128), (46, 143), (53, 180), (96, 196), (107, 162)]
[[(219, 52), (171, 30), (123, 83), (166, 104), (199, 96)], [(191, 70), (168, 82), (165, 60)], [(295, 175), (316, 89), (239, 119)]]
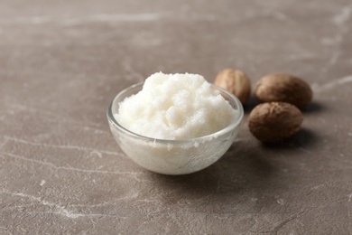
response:
[(214, 164), (233, 144), (244, 110), (241, 102), (225, 89), (218, 89), (227, 99), (237, 116), (226, 128), (208, 136), (184, 140), (155, 139), (141, 136), (122, 127), (114, 118), (119, 103), (138, 93), (144, 83), (135, 84), (118, 93), (107, 108), (107, 119), (118, 146), (136, 164), (159, 174), (190, 174)]

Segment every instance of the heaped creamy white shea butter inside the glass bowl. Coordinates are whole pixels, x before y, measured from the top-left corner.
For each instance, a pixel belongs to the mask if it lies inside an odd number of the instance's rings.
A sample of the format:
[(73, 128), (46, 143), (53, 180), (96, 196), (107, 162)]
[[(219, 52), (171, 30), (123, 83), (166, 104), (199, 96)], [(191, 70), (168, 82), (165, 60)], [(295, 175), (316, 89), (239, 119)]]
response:
[(190, 139), (227, 127), (236, 110), (200, 75), (158, 72), (119, 104), (115, 118), (142, 136)]

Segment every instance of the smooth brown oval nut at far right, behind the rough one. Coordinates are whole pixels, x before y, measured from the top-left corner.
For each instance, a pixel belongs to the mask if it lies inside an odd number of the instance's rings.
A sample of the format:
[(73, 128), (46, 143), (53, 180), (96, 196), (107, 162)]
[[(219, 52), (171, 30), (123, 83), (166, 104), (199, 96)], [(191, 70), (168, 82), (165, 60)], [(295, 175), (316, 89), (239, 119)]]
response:
[(307, 82), (285, 73), (266, 75), (255, 84), (255, 97), (262, 102), (282, 101), (300, 108), (312, 95)]

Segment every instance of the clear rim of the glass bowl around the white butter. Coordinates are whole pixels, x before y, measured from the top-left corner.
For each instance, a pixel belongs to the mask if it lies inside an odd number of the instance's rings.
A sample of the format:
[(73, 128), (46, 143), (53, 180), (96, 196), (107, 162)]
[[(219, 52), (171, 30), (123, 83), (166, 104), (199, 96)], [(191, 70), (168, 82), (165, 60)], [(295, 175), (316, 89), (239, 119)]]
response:
[[(231, 122), (230, 125), (228, 125), (225, 128), (222, 128), (220, 130), (218, 130), (217, 132), (211, 133), (207, 136), (199, 136), (199, 137), (195, 137), (195, 138), (189, 138), (189, 139), (161, 139), (161, 138), (153, 138), (153, 137), (149, 137), (149, 136), (143, 136), (143, 135), (139, 135), (137, 133), (134, 133), (133, 131), (128, 130), (127, 128), (123, 127), (122, 125), (120, 125), (117, 121), (116, 118), (114, 117), (113, 114), (113, 104), (115, 103), (116, 99), (118, 99), (120, 96), (124, 95), (125, 92), (127, 92), (130, 89), (135, 89), (136, 87), (140, 87), (144, 85), (144, 81), (142, 82), (138, 82), (135, 83), (132, 86), (129, 86), (123, 90), (121, 90), (119, 93), (117, 93), (117, 95), (114, 97), (114, 99), (111, 100), (109, 106), (107, 107), (107, 119), (109, 121), (110, 124), (113, 124), (116, 128), (118, 128), (120, 131), (124, 132), (125, 135), (127, 136), (132, 136), (135, 138), (139, 138), (139, 139), (144, 139), (145, 141), (148, 142), (154, 142), (154, 143), (159, 143), (159, 144), (172, 144), (172, 145), (181, 145), (181, 144), (188, 144), (190, 142), (194, 143), (194, 142), (202, 142), (205, 140), (209, 140), (218, 136), (221, 136), (223, 134), (226, 134), (228, 131), (234, 129), (235, 127), (239, 126), (241, 124), (241, 121), (244, 117), (244, 108), (242, 106), (242, 103), (239, 99), (236, 98), (235, 95), (233, 95), (231, 92), (229, 92), (226, 89), (222, 89), (220, 87), (218, 87), (215, 84), (209, 83), (211, 87), (220, 90), (221, 92), (224, 92), (225, 94), (227, 94), (228, 97), (230, 97), (231, 99), (233, 99), (236, 103), (236, 107), (237, 107), (237, 111), (238, 114), (236, 116), (236, 118), (234, 119), (234, 121)], [(232, 106), (231, 106), (232, 107)]]

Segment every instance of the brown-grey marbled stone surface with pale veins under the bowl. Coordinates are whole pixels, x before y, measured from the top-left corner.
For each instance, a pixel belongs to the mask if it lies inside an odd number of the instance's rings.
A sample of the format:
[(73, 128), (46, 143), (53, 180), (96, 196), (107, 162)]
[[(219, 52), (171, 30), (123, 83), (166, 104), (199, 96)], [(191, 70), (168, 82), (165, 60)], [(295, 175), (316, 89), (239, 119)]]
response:
[[(352, 3), (0, 2), (1, 234), (351, 234)], [(307, 80), (301, 132), (264, 146), (245, 119), (196, 174), (148, 172), (108, 103), (155, 71)]]

